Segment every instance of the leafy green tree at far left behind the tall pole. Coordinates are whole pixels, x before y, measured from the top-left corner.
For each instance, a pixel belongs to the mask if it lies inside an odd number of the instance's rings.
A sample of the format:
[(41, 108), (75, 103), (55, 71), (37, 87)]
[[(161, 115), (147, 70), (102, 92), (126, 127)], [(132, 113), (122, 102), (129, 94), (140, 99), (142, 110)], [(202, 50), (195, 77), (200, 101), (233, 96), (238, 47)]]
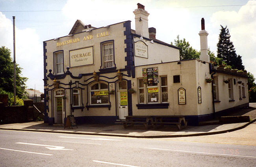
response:
[[(22, 98), (25, 92), (28, 80), (21, 75), (22, 68), (16, 64), (16, 94)], [(13, 60), (11, 59), (11, 51), (2, 46), (0, 48), (0, 88), (6, 92), (13, 92)]]

